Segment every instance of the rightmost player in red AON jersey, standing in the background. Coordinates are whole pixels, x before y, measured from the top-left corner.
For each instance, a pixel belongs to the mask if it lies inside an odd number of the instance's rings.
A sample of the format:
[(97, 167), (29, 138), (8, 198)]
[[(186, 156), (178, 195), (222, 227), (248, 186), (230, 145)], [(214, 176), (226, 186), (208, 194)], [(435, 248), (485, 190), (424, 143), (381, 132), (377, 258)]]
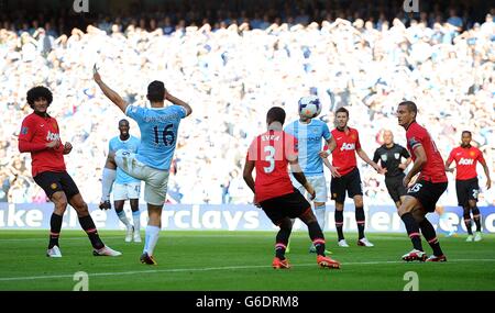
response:
[[(481, 235), (481, 214), (480, 209), (476, 206), (477, 194), (480, 192), (480, 186), (477, 183), (476, 164), (483, 166), (483, 170), (486, 175), (486, 189), (492, 187), (492, 180), (490, 179), (488, 166), (483, 158), (483, 153), (471, 145), (471, 132), (462, 132), (461, 146), (453, 148), (446, 161), (446, 171), (453, 171), (450, 168), (452, 161), (455, 160), (455, 190), (458, 193), (459, 205), (464, 209), (464, 223), (468, 228), (468, 242), (480, 242)], [(471, 212), (473, 212), (473, 220), (476, 224), (476, 235), (473, 238), (473, 231), (471, 230)]]

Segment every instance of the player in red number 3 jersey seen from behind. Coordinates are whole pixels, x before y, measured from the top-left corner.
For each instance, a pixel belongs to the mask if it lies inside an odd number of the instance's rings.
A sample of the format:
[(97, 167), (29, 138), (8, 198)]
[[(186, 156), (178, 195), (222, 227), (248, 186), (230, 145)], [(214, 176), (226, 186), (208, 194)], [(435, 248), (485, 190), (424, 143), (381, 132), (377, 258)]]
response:
[[(275, 244), (275, 269), (290, 268), (285, 258), (285, 250), (293, 230), (290, 219), (299, 217), (309, 231), (317, 250), (317, 264), (324, 268), (339, 268), (340, 264), (324, 255), (324, 236), (318, 224), (311, 205), (305, 197), (294, 188), (287, 172), (287, 166), (297, 181), (315, 198), (315, 189), (306, 180), (299, 167), (297, 139), (283, 131), (285, 111), (274, 107), (266, 114), (268, 131), (253, 139), (248, 150), (244, 165), (244, 180), (254, 192), (254, 203), (261, 206), (270, 220), (280, 227)], [(256, 180), (253, 169), (256, 168)]]

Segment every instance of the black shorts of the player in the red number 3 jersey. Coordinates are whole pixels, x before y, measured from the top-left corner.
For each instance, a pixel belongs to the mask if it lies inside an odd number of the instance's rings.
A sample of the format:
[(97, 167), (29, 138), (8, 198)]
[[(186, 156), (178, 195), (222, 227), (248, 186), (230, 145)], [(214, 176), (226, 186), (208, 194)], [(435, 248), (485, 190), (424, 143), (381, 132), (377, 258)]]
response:
[(296, 219), (306, 211), (311, 210), (311, 204), (297, 189), (294, 189), (293, 193), (262, 201), (260, 205), (268, 219), (277, 226), (285, 217)]

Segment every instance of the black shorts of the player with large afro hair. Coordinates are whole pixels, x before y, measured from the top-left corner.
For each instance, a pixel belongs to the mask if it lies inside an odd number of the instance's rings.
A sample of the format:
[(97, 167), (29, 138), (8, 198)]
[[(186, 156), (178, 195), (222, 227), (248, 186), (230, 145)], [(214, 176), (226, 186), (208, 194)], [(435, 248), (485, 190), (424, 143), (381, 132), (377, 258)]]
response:
[(64, 191), (67, 200), (79, 193), (79, 189), (67, 171), (43, 171), (34, 177), (34, 181), (45, 191), (46, 197)]

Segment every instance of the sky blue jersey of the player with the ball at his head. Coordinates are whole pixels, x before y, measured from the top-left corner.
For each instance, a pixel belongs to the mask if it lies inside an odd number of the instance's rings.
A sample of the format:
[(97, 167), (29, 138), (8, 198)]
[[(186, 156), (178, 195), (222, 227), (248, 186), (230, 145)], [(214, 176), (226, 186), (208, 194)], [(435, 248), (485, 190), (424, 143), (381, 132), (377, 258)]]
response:
[(323, 159), (318, 155), (322, 149), (321, 139), (330, 139), (332, 134), (327, 124), (320, 120), (311, 120), (304, 124), (299, 120), (288, 124), (285, 132), (298, 141), (299, 165), (306, 176), (323, 174)]

